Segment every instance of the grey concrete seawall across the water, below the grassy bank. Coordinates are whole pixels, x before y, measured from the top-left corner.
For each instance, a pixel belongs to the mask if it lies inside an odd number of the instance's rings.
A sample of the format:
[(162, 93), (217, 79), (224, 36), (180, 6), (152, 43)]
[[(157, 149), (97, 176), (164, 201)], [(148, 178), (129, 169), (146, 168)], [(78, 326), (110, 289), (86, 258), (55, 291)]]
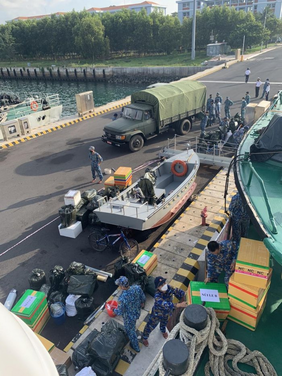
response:
[[(114, 77), (188, 77), (202, 72), (211, 66), (194, 67), (0, 67), (0, 78), (2, 79), (25, 79), (25, 80), (110, 80)], [(216, 62), (217, 63), (217, 62)], [(222, 64), (222, 61), (218, 61)]]

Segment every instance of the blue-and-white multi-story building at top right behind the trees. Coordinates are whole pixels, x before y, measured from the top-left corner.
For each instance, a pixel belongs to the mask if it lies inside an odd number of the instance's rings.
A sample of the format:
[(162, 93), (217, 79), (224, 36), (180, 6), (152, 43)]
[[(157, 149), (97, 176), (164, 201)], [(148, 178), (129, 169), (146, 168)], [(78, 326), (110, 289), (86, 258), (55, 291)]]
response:
[[(193, 0), (178, 0), (178, 18), (182, 23), (185, 18), (193, 17)], [(268, 7), (267, 12), (273, 12), (277, 18), (282, 17), (282, 0), (196, 0), (196, 11), (201, 11), (204, 6), (233, 6), (237, 11), (262, 12)]]

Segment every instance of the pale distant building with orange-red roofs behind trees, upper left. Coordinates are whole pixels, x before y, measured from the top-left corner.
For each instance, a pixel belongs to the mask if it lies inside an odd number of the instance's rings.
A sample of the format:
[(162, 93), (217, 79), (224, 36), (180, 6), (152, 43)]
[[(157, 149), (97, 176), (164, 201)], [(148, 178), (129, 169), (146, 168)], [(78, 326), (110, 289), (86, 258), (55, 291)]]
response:
[[(110, 12), (115, 13), (118, 11), (121, 11), (122, 9), (129, 9), (130, 11), (136, 11), (139, 12), (141, 9), (146, 9), (147, 14), (152, 13), (155, 9), (157, 9), (158, 12), (162, 12), (164, 15), (166, 15), (166, 7), (163, 5), (160, 5), (158, 3), (154, 3), (152, 1), (143, 1), (142, 3), (137, 4), (127, 4), (127, 5), (112, 5), (108, 6), (106, 8), (90, 8), (87, 9), (87, 12), (89, 13), (104, 13), (104, 12)], [(57, 12), (54, 13), (57, 17), (59, 17), (62, 14), (65, 14), (65, 12)], [(40, 16), (29, 16), (29, 17), (17, 17), (13, 20), (9, 20), (6, 22), (12, 22), (12, 21), (26, 21), (26, 20), (41, 20), (43, 17), (51, 17), (52, 14), (44, 14)]]

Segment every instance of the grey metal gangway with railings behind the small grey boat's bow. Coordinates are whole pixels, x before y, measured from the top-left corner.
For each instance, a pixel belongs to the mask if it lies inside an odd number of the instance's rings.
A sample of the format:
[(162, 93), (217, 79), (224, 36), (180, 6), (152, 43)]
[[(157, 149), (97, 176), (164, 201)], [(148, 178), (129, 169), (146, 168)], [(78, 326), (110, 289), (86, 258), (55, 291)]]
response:
[(207, 143), (205, 139), (188, 136), (174, 135), (173, 138), (168, 138), (167, 143), (159, 151), (159, 158), (170, 158), (184, 150), (192, 149), (200, 158), (200, 163), (212, 166), (228, 167), (232, 158), (237, 151), (237, 145), (232, 144), (232, 147), (225, 146), (223, 141), (217, 144)]

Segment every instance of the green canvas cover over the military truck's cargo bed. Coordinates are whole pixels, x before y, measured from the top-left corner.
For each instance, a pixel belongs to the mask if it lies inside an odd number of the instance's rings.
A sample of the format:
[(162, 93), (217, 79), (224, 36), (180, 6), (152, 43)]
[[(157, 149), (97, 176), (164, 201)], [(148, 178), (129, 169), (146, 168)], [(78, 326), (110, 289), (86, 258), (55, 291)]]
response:
[(184, 80), (131, 94), (131, 103), (145, 102), (154, 106), (156, 121), (193, 111), (205, 105), (206, 86)]

